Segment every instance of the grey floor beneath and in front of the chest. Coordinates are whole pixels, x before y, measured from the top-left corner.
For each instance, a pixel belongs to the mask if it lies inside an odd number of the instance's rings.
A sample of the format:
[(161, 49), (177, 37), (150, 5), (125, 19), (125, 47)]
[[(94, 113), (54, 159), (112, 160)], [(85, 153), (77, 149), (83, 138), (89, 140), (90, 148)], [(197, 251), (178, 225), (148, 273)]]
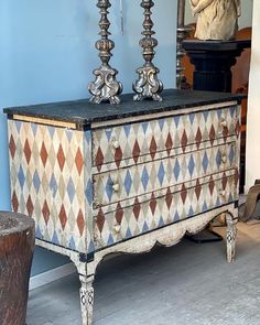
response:
[[(224, 242), (186, 239), (104, 262), (95, 282), (94, 324), (259, 325), (260, 224), (238, 228), (234, 264), (225, 260)], [(78, 286), (73, 274), (30, 292), (28, 325), (80, 324)]]

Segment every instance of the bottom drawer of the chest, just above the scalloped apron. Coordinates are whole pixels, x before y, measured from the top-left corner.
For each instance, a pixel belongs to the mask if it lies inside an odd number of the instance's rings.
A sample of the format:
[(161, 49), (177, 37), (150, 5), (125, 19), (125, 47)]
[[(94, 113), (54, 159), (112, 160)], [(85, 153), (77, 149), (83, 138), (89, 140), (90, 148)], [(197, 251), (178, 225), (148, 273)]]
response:
[(236, 175), (226, 176), (224, 173), (221, 178), (210, 177), (209, 182), (202, 182), (195, 181), (193, 187), (183, 184), (174, 193), (169, 188), (161, 197), (151, 193), (151, 198), (143, 203), (137, 197), (136, 204), (126, 208), (118, 203), (117, 210), (106, 215), (100, 208), (95, 218), (96, 248), (111, 246), (238, 199)]

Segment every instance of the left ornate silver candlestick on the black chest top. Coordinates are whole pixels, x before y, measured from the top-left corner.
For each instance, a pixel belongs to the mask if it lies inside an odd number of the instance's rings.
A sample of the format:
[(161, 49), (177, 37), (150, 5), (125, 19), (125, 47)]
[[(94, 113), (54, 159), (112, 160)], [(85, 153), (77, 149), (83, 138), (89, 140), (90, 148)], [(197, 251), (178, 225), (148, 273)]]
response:
[(101, 39), (96, 42), (96, 48), (99, 51), (99, 57), (102, 62), (98, 69), (94, 71), (96, 80), (88, 86), (89, 93), (93, 95), (90, 102), (100, 104), (101, 101), (110, 101), (110, 104), (119, 104), (118, 95), (122, 93), (122, 84), (117, 82), (118, 71), (112, 68), (108, 63), (112, 56), (111, 50), (115, 43), (108, 39), (110, 35), (108, 29), (110, 22), (108, 20), (108, 8), (111, 7), (109, 0), (98, 0), (97, 7), (100, 9), (101, 19), (99, 21)]

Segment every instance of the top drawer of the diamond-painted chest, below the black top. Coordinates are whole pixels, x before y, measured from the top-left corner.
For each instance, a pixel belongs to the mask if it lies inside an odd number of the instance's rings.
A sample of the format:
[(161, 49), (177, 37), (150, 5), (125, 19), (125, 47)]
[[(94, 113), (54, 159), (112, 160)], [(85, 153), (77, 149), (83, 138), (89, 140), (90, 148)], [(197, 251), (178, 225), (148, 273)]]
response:
[(238, 107), (202, 110), (185, 115), (121, 124), (93, 131), (93, 164), (101, 170), (104, 164), (119, 167), (140, 162), (142, 155), (159, 159), (161, 152), (174, 154), (176, 148), (185, 152), (188, 145), (196, 149), (204, 141), (212, 144), (220, 138), (239, 132)]

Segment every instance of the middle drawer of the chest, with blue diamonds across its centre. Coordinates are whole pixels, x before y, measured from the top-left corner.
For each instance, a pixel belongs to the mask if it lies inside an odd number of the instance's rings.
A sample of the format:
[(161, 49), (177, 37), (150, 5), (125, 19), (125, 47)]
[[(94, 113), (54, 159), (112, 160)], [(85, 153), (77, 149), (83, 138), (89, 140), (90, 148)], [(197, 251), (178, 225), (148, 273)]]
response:
[[(95, 207), (236, 167), (236, 142), (94, 175)], [(123, 206), (123, 204), (122, 204)]]

